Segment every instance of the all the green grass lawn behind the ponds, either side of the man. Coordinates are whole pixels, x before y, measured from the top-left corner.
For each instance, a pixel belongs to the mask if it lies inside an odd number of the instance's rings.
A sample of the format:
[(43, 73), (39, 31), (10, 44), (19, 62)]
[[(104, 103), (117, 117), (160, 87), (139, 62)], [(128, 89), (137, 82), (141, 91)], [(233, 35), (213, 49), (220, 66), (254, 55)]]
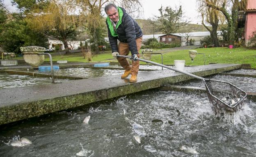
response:
[[(245, 48), (200, 48), (197, 53), (205, 53), (206, 65), (209, 63), (247, 63), (256, 68), (256, 50)], [(155, 51), (155, 50), (153, 50)], [(92, 58), (92, 62), (110, 62), (113, 59), (111, 51), (105, 51)], [(46, 58), (49, 61), (49, 58)], [(81, 53), (71, 55), (53, 56), (53, 61), (67, 60), (68, 62), (88, 62)], [(188, 50), (180, 50), (163, 54), (164, 64), (174, 64), (174, 60), (185, 60), (186, 65), (203, 65), (203, 55), (197, 54), (191, 62)], [(151, 61), (161, 63), (161, 55), (153, 55)], [(145, 64), (140, 62), (141, 64)]]

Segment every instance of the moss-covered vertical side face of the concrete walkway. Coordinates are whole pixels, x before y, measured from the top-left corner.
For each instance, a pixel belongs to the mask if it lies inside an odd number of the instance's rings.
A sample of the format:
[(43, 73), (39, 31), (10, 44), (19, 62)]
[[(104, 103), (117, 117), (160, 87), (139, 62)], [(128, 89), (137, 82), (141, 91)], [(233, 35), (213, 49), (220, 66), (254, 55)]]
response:
[[(241, 65), (195, 72), (193, 74), (206, 76), (238, 68), (241, 68)], [(45, 100), (34, 102), (17, 102), (12, 106), (3, 106), (0, 108), (0, 125), (191, 79), (194, 79), (194, 77), (181, 74), (64, 97), (46, 98)]]

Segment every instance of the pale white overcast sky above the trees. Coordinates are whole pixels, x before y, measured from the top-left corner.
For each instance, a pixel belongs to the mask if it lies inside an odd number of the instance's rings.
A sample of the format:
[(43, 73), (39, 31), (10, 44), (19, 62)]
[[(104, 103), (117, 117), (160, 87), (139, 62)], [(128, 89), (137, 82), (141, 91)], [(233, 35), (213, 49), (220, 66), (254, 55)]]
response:
[[(197, 0), (141, 0), (142, 7), (144, 10), (144, 19), (151, 19), (153, 17), (159, 16), (160, 13), (158, 9), (160, 9), (161, 5), (163, 7), (171, 7), (175, 8), (175, 6), (182, 6), (183, 12), (187, 17), (187, 20), (193, 24), (201, 24), (200, 19), (198, 18), (198, 12), (196, 11)], [(4, 4), (10, 11), (14, 11), (15, 8), (11, 6), (11, 0), (4, 0)]]

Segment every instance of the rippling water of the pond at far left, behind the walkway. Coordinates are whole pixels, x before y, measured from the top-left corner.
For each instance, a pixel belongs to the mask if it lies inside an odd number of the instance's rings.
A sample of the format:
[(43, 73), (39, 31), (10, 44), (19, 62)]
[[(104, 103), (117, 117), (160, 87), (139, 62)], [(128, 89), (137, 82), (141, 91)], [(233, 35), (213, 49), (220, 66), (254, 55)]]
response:
[[(55, 82), (67, 81), (64, 79), (55, 79)], [(9, 73), (0, 73), (0, 88), (14, 88), (21, 86), (33, 86), (37, 84), (51, 83), (50, 77), (32, 77), (29, 75), (14, 75)]]

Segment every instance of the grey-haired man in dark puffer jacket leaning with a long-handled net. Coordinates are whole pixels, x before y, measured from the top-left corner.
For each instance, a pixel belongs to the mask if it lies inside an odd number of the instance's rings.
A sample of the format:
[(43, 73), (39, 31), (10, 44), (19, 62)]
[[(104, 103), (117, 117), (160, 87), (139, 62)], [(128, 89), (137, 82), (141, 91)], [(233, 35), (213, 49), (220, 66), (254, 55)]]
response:
[[(112, 56), (128, 55), (132, 53), (132, 66), (124, 57), (117, 57), (118, 62), (125, 69), (121, 78), (126, 78), (131, 74), (130, 82), (137, 82), (137, 74), (139, 71), (139, 49), (142, 46), (142, 30), (137, 22), (126, 13), (126, 10), (117, 7), (115, 4), (107, 4), (105, 6), (107, 13), (107, 30)], [(119, 44), (117, 45), (117, 40)]]

